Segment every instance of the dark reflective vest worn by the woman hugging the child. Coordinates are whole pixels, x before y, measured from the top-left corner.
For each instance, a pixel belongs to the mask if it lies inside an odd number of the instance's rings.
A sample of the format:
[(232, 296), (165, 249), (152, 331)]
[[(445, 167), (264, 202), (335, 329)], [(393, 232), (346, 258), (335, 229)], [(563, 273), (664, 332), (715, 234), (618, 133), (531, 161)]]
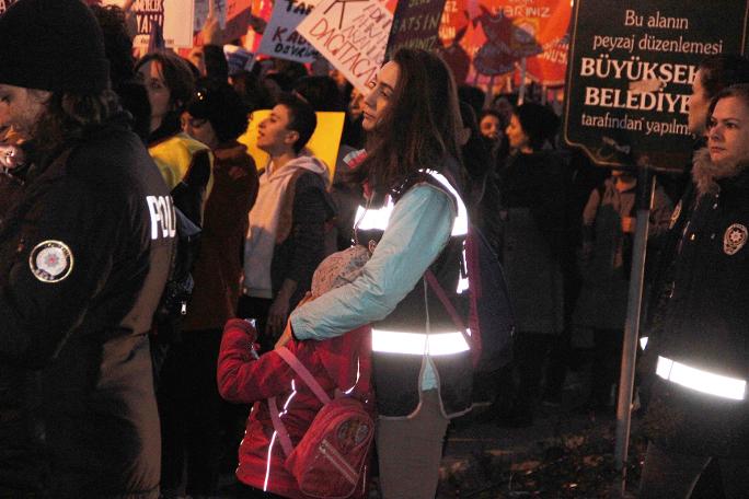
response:
[[(463, 246), (468, 235), (468, 211), (447, 177), (434, 171), (422, 172), (401, 192), (422, 182), (443, 190), (458, 208), (450, 240), (429, 269), (465, 322), (469, 301), (464, 292), (468, 276)], [(359, 208), (355, 227), (359, 244), (379, 241), (395, 202), (397, 194), (389, 196), (382, 208)], [(458, 416), (470, 409), (473, 374), (465, 334), (470, 332), (458, 329), (437, 294), (422, 278), (388, 317), (372, 324), (372, 371), (379, 414), (405, 417), (418, 408), (423, 370), (428, 361), (435, 368), (445, 416)]]

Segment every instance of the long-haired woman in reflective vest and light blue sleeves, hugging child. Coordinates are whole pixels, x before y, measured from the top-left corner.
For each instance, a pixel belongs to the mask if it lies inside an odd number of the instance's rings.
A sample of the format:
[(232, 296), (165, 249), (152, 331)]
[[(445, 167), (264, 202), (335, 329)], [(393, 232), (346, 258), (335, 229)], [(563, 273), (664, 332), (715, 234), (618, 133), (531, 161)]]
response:
[(365, 100), (362, 126), (367, 155), (354, 177), (368, 206), (356, 234), (372, 257), (359, 278), (298, 307), (279, 343), (372, 324), (382, 495), (431, 498), (449, 418), (470, 408), (472, 383), (468, 344), (427, 283), (434, 277), (462, 306), (454, 290), (468, 223), (449, 68), (399, 50)]

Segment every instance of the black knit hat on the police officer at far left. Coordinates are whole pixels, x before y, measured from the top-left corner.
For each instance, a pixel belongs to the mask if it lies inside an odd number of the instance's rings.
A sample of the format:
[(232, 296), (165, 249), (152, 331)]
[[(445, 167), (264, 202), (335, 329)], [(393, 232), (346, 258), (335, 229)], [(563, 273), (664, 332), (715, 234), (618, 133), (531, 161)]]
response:
[(0, 15), (0, 83), (99, 93), (110, 62), (95, 18), (81, 0), (19, 0)]

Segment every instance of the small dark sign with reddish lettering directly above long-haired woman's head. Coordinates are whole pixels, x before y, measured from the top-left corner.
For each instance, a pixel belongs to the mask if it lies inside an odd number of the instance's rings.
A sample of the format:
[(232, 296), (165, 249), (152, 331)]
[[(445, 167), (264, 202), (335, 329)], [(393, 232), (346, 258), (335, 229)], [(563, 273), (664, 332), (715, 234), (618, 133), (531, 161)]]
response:
[[(452, 0), (454, 2), (454, 0)], [(445, 0), (401, 0), (395, 8), (387, 54), (399, 48), (439, 48), (439, 26)]]

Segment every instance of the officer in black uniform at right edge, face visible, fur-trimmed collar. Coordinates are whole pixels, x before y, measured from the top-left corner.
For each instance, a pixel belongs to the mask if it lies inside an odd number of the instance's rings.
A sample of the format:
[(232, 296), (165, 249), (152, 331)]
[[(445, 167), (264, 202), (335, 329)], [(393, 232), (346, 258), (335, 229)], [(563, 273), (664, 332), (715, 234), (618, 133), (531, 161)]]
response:
[(749, 85), (718, 93), (708, 116), (645, 350), (655, 382), (641, 499), (690, 497), (713, 459), (726, 497), (749, 497)]

